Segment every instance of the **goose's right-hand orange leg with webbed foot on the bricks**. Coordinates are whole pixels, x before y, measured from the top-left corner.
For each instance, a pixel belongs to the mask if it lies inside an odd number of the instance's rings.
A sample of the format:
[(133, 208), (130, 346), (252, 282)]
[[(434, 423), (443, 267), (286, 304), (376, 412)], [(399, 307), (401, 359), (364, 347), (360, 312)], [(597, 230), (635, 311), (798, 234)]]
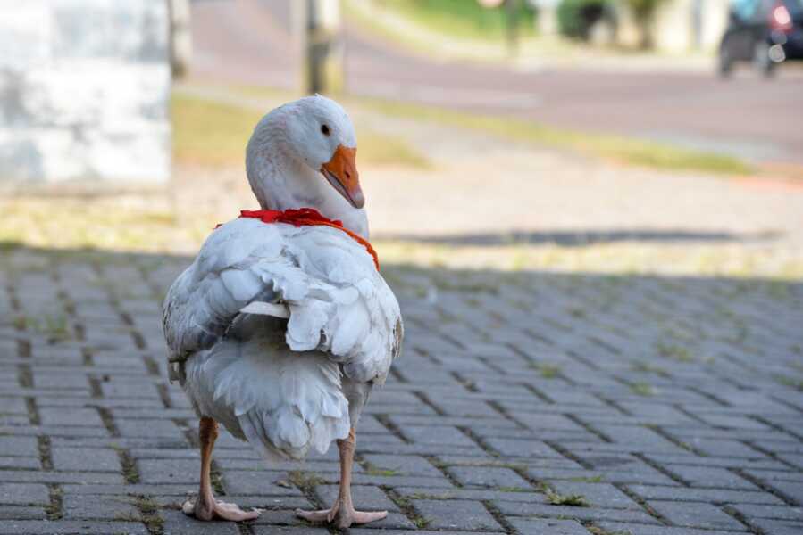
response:
[(348, 432), (346, 440), (338, 440), (340, 450), (340, 491), (337, 501), (322, 511), (304, 511), (296, 509), (296, 515), (310, 522), (330, 523), (338, 528), (347, 528), (351, 524), (363, 524), (381, 520), (388, 516), (387, 511), (355, 511), (351, 500), (351, 467), (354, 464), (356, 445), (354, 427)]

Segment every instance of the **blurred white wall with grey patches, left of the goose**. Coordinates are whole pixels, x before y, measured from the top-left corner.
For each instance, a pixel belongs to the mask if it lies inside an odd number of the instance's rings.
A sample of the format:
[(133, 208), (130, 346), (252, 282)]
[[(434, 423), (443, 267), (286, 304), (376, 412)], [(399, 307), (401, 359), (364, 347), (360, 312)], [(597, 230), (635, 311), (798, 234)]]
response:
[(0, 185), (170, 177), (164, 0), (0, 2)]

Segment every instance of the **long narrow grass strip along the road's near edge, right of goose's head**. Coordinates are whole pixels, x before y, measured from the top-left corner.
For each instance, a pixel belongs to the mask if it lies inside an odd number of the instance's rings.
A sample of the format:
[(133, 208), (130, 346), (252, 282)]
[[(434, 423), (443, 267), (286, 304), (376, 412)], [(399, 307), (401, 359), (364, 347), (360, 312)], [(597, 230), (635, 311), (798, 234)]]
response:
[(630, 165), (665, 170), (690, 170), (724, 175), (749, 175), (755, 168), (732, 156), (693, 151), (671, 144), (622, 136), (591, 134), (553, 128), (522, 119), (474, 115), (420, 104), (361, 99), (368, 107), (386, 115), (429, 120), (456, 128), (480, 130), (514, 141), (571, 149)]

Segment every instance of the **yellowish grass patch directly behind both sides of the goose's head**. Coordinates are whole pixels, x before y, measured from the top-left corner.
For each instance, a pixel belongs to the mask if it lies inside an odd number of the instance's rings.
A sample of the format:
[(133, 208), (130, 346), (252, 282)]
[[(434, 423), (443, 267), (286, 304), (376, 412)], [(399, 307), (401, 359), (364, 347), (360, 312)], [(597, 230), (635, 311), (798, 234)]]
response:
[[(175, 160), (211, 167), (244, 165), (248, 138), (266, 111), (247, 104), (221, 103), (213, 98), (174, 92), (171, 114)], [(431, 167), (427, 157), (403, 139), (359, 125), (355, 128), (359, 133), (361, 163)]]

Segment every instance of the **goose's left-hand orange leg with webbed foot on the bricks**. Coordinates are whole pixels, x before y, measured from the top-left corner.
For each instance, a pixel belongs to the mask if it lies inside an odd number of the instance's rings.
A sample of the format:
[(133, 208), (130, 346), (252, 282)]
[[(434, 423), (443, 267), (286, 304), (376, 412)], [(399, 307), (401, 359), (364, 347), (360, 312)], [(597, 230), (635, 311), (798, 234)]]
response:
[(195, 503), (190, 500), (184, 502), (181, 510), (188, 516), (195, 516), (198, 520), (213, 520), (220, 518), (240, 522), (253, 520), (261, 511), (243, 511), (234, 504), (227, 504), (214, 499), (212, 492), (212, 479), (209, 471), (212, 468), (212, 449), (217, 440), (217, 422), (212, 418), (203, 417), (198, 426), (198, 438), (201, 442), (201, 487)]

